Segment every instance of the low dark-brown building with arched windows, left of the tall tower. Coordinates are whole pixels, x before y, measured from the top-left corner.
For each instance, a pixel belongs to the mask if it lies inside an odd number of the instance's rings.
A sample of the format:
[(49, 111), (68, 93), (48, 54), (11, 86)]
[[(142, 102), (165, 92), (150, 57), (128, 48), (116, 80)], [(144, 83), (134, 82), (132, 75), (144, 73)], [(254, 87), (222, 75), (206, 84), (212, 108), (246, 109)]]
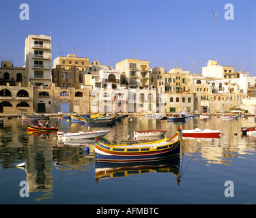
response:
[(25, 67), (14, 67), (12, 61), (1, 61), (0, 85), (27, 86), (27, 74)]

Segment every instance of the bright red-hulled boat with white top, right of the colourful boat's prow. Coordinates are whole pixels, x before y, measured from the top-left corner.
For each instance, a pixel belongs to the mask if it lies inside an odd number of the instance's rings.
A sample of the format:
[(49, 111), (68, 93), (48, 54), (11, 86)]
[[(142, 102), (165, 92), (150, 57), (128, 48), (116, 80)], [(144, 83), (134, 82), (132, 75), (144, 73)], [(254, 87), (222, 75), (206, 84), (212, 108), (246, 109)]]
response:
[(192, 130), (182, 130), (182, 136), (193, 137), (193, 138), (215, 138), (220, 135), (221, 131), (211, 130), (211, 129), (192, 129)]

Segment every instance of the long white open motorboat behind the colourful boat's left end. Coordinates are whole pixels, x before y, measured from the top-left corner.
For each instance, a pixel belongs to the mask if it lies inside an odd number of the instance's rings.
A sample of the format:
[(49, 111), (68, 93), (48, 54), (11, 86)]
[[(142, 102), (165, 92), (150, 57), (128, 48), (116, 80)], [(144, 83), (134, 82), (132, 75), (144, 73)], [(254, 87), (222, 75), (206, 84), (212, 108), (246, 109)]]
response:
[(64, 133), (63, 131), (58, 131), (58, 138), (63, 138), (63, 140), (80, 140), (85, 138), (95, 138), (100, 136), (106, 136), (110, 130), (101, 130), (101, 131), (79, 131), (74, 133)]

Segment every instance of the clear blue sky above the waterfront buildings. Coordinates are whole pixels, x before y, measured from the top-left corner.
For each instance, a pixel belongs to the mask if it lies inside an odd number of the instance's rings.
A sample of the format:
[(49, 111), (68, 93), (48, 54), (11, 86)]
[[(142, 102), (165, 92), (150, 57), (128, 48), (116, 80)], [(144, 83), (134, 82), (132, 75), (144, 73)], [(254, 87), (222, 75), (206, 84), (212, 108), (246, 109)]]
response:
[[(20, 20), (22, 3), (29, 20)], [(227, 3), (233, 20), (225, 19)], [(53, 60), (75, 54), (115, 68), (141, 59), (201, 74), (213, 59), (256, 76), (255, 10), (255, 0), (2, 0), (0, 60), (23, 66), (25, 38), (43, 34), (52, 37)]]

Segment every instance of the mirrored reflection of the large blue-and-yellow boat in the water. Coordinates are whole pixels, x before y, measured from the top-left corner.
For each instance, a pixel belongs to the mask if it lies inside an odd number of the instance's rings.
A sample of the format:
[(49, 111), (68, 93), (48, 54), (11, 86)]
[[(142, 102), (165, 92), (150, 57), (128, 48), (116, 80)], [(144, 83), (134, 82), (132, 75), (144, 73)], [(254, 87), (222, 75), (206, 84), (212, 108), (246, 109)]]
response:
[(180, 184), (180, 155), (155, 161), (132, 161), (132, 162), (104, 162), (96, 161), (96, 182), (115, 177), (125, 177), (135, 174), (150, 172), (171, 172), (176, 176), (177, 185)]

